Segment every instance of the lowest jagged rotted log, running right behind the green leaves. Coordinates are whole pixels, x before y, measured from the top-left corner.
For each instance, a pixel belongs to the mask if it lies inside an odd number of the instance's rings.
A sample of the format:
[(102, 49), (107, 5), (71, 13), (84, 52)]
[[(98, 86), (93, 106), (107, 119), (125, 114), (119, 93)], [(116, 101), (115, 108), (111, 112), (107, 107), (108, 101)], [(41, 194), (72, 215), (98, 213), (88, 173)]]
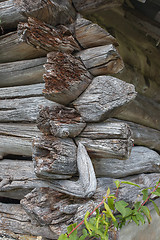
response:
[[(124, 200), (130, 204), (137, 201), (137, 195), (141, 190), (154, 186), (159, 180), (160, 174), (143, 174), (135, 179), (140, 188), (131, 185), (122, 184), (119, 189), (119, 200)], [(66, 231), (67, 225), (80, 222), (87, 211), (91, 212), (106, 195), (106, 190), (109, 187), (111, 192), (116, 191), (114, 181), (111, 178), (99, 178), (98, 188), (95, 195), (91, 199), (80, 199), (58, 193), (50, 188), (34, 189), (29, 193), (21, 204), (33, 221), (39, 225), (49, 225), (50, 229), (58, 235)], [(132, 181), (132, 178), (130, 179)], [(130, 194), (126, 194), (129, 192)], [(43, 201), (42, 201), (43, 199)], [(142, 196), (138, 198), (142, 200)], [(54, 206), (54, 208), (53, 208)]]

